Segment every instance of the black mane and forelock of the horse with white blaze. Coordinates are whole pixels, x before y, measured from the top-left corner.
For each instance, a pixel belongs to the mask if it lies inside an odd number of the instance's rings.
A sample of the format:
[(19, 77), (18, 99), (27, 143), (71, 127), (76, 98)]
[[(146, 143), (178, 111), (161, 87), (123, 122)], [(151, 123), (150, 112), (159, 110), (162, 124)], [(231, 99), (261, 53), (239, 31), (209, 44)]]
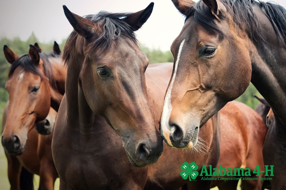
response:
[[(262, 2), (256, 0), (220, 0), (226, 7), (230, 15), (232, 15), (238, 29), (247, 32), (252, 40), (256, 40), (255, 35), (262, 38), (260, 34), (259, 21), (253, 11), (253, 4), (263, 8), (269, 18), (276, 35), (286, 44), (286, 9), (274, 2)], [(215, 16), (209, 11), (209, 8), (202, 2), (198, 1), (190, 8), (186, 19), (193, 16), (194, 20), (212, 32), (223, 34), (221, 29), (215, 23)], [(224, 17), (221, 13), (219, 19)], [(186, 21), (186, 20), (185, 20)], [(254, 35), (255, 34), (255, 35)], [(262, 38), (263, 39), (263, 38)]]

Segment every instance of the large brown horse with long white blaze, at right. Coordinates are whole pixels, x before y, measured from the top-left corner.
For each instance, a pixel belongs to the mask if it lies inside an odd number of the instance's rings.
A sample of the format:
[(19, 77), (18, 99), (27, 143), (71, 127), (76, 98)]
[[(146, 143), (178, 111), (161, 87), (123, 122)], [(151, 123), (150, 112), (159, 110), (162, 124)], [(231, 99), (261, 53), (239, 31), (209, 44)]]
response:
[(175, 60), (161, 117), (163, 136), (172, 139), (182, 131), (185, 147), (190, 140), (196, 143), (194, 130), (251, 81), (275, 118), (267, 132), (264, 162), (274, 166), (273, 189), (286, 189), (285, 9), (253, 0), (172, 2), (186, 20), (171, 45)]

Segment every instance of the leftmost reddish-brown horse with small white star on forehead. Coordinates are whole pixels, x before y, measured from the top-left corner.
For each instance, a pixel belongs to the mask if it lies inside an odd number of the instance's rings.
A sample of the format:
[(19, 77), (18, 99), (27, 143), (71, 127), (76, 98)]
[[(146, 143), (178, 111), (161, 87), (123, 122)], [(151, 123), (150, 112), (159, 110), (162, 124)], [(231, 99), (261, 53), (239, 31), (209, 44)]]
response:
[[(66, 75), (61, 56), (39, 53), (32, 45), (29, 53), (21, 57), (5, 45), (4, 54), (11, 67), (6, 83), (9, 102), (3, 115), (2, 145), (8, 160), (11, 189), (29, 188), (22, 185), (23, 180), (19, 181), (21, 168), (40, 176), (41, 189), (53, 189), (58, 175), (53, 165), (51, 146), (48, 146), (52, 134), (41, 136), (34, 126), (47, 118), (51, 107), (59, 107)], [(51, 122), (39, 123), (36, 128), (48, 134), (51, 133), (45, 131), (48, 125)], [(25, 169), (22, 171), (25, 172)], [(33, 175), (29, 177), (32, 179)]]

